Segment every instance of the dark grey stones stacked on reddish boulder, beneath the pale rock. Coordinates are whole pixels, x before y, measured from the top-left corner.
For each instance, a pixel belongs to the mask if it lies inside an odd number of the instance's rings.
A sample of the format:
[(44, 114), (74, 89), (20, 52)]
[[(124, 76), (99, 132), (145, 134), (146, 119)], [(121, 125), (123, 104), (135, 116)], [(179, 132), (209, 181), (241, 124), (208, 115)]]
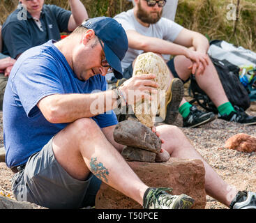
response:
[(156, 133), (139, 121), (118, 123), (114, 129), (114, 140), (125, 145), (121, 154), (128, 161), (166, 162), (170, 159), (169, 153), (161, 150), (162, 142)]

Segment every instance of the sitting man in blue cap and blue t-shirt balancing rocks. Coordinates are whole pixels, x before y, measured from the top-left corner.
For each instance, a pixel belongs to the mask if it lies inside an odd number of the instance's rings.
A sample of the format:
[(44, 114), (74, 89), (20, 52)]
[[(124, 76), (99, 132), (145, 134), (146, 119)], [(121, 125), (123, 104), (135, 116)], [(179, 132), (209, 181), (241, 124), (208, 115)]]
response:
[[(121, 24), (97, 17), (67, 38), (33, 47), (17, 60), (3, 101), (6, 164), (16, 172), (16, 199), (48, 208), (93, 206), (103, 181), (144, 208), (193, 205), (185, 194), (144, 185), (119, 153), (123, 146), (114, 141), (117, 121), (112, 109), (118, 100), (124, 101), (123, 95), (150, 99), (158, 86), (156, 75), (138, 75), (106, 91), (105, 75), (114, 70), (116, 78), (122, 77), (121, 59), (127, 49)], [(230, 192), (179, 128), (160, 125), (152, 130), (163, 137), (163, 150), (173, 157), (204, 162), (209, 195), (231, 208), (256, 208), (256, 194)]]

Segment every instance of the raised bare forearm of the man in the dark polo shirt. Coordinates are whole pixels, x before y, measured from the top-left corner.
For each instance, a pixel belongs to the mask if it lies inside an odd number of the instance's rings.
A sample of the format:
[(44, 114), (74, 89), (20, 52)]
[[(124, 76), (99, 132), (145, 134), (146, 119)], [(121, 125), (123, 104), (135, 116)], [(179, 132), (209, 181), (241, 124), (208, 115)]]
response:
[(69, 0), (71, 12), (75, 23), (79, 26), (84, 20), (88, 19), (88, 13), (80, 0)]

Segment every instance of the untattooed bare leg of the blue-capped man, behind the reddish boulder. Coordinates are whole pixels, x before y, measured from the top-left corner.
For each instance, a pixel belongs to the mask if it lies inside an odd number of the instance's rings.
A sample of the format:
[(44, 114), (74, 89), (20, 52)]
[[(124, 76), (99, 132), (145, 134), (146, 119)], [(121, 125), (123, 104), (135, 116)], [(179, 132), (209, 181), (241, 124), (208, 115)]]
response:
[(220, 178), (216, 171), (197, 153), (183, 132), (173, 125), (160, 125), (156, 127), (156, 130), (160, 133), (161, 139), (164, 140), (162, 147), (170, 153), (171, 157), (202, 160), (205, 169), (206, 193), (229, 206), (232, 199), (236, 196), (237, 190)]

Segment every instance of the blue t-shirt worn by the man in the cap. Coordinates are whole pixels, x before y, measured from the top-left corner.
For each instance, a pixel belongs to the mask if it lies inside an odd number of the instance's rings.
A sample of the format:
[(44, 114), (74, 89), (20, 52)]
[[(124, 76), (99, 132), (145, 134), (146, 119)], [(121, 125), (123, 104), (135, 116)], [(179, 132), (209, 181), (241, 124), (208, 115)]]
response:
[[(90, 77), (86, 82), (77, 79), (52, 40), (24, 52), (10, 73), (3, 99), (7, 166), (27, 162), (30, 155), (40, 151), (54, 134), (68, 125), (48, 122), (36, 106), (40, 99), (52, 94), (105, 91), (106, 87), (102, 75)], [(117, 123), (113, 111), (94, 116), (93, 120), (100, 128)]]

